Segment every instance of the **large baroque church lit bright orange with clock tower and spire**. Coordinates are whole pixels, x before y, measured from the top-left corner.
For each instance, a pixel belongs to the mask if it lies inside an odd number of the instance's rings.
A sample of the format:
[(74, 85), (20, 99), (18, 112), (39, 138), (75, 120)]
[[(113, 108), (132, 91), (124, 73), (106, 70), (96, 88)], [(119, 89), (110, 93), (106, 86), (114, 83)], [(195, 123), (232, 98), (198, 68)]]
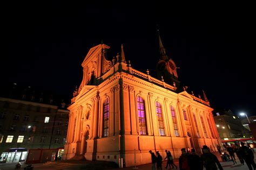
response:
[(159, 36), (157, 78), (139, 72), (120, 55), (106, 59), (110, 47), (100, 44), (86, 55), (83, 80), (71, 100), (63, 159), (105, 160), (126, 166), (151, 162), (149, 150), (174, 158), (180, 149), (203, 145), (217, 150), (220, 138), (205, 94), (188, 94), (180, 86), (176, 64)]

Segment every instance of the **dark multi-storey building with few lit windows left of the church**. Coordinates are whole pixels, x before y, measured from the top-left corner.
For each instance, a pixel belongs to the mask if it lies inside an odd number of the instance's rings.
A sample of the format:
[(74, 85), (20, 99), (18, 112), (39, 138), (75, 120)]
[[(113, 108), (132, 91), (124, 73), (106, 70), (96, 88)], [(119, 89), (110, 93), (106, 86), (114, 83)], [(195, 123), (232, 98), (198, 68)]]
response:
[[(69, 111), (55, 96), (13, 84), (0, 97), (0, 161), (26, 159), (30, 149), (64, 148)], [(26, 92), (25, 92), (26, 91)], [(10, 93), (9, 93), (10, 92)], [(2, 153), (2, 154), (1, 154)]]

